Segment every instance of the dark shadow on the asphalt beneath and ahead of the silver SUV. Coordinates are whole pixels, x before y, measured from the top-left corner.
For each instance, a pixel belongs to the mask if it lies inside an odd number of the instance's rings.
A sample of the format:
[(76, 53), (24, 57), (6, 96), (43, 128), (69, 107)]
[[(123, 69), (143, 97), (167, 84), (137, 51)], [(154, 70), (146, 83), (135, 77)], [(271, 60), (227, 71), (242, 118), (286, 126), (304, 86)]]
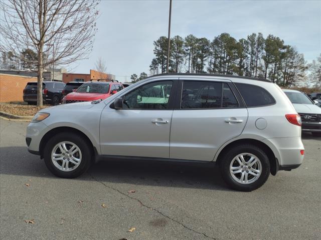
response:
[[(44, 161), (39, 156), (29, 153), (27, 147), (1, 147), (0, 155), (1, 174), (56, 178), (47, 169)], [(171, 162), (98, 160), (87, 173), (76, 180), (231, 190), (224, 183), (217, 166)]]

